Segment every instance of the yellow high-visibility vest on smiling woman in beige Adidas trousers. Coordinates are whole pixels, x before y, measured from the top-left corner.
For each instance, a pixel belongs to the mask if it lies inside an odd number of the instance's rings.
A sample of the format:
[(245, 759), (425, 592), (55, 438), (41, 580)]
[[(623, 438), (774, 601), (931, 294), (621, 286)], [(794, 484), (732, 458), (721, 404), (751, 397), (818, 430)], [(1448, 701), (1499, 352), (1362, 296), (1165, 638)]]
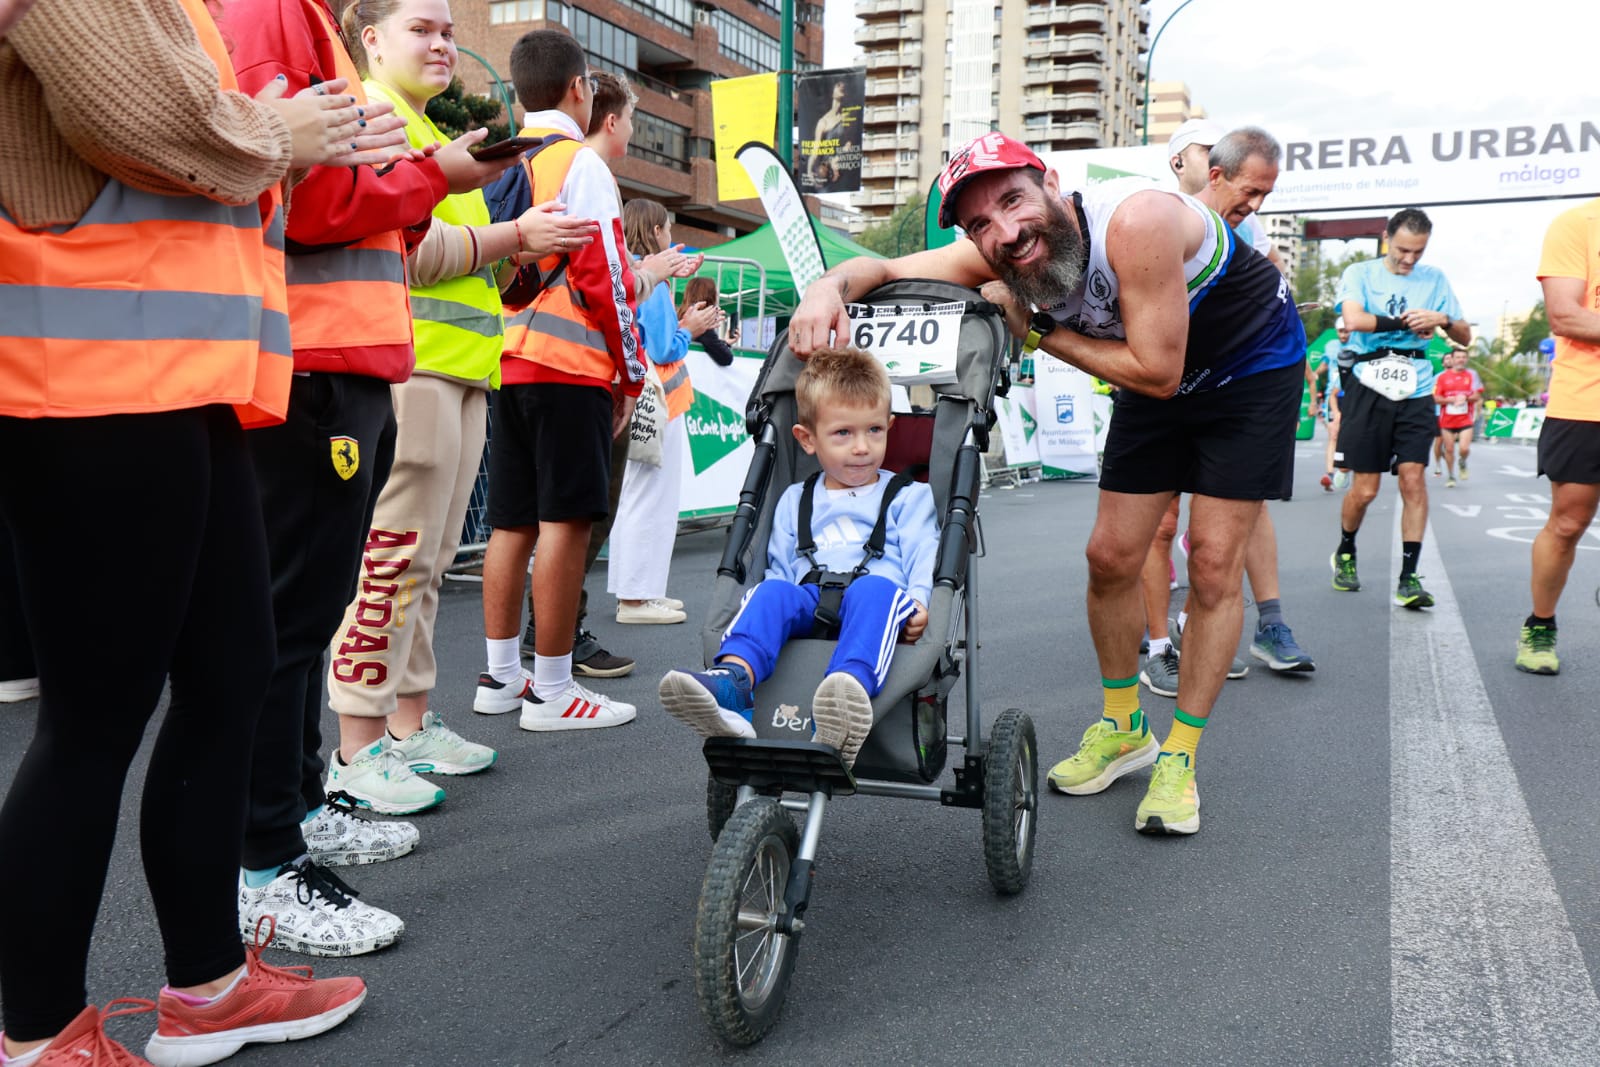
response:
[[(418, 114), (389, 86), (370, 80), (366, 91), (395, 106), (395, 114), (405, 118), (405, 136), (411, 147), (450, 142), (426, 114)], [(477, 189), (445, 197), (434, 208), (434, 218), (459, 227), (486, 227), (493, 221), (490, 206)], [(469, 240), (464, 234), (453, 238)], [(469, 246), (477, 248), (475, 243)], [(416, 370), (469, 382), (486, 379), (491, 386), (499, 384), (506, 320), (501, 317), (499, 285), (494, 282), (493, 266), (434, 285), (411, 286), (411, 320), (416, 334)]]

